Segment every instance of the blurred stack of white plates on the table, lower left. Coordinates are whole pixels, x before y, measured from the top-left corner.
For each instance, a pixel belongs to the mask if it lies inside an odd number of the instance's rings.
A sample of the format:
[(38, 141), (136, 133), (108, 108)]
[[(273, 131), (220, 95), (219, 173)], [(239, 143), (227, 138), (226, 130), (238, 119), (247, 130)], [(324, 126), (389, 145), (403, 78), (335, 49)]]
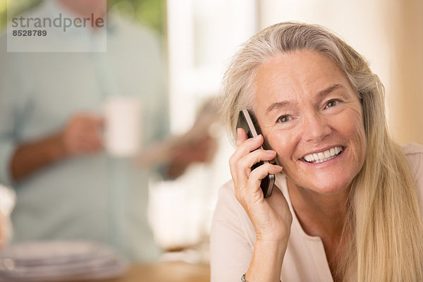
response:
[(103, 245), (42, 241), (0, 250), (0, 281), (83, 281), (122, 276), (127, 262)]

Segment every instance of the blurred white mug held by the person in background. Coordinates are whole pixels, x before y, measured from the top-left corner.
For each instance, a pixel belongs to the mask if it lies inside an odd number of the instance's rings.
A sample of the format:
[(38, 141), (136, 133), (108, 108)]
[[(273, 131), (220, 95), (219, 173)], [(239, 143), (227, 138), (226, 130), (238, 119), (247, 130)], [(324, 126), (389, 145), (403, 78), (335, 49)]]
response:
[(114, 157), (132, 157), (141, 149), (141, 99), (111, 97), (104, 102), (104, 147)]

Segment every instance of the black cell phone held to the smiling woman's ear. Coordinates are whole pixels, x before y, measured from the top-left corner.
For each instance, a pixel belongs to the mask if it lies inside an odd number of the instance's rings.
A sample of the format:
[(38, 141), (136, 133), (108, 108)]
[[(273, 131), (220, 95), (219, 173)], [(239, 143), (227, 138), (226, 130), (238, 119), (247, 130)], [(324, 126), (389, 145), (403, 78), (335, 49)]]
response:
[[(245, 130), (245, 133), (247, 133), (248, 138), (253, 138), (261, 134), (259, 124), (257, 123), (254, 114), (250, 114), (250, 111), (246, 109), (240, 111), (236, 128), (243, 128), (243, 130)], [(264, 147), (260, 146), (259, 149), (270, 149), (268, 146), (266, 146), (266, 140), (264, 140), (263, 145)], [(252, 166), (252, 169), (257, 168), (258, 166), (261, 166), (265, 163), (268, 164), (269, 161), (259, 161), (257, 164)], [(262, 188), (263, 195), (265, 198), (271, 196), (271, 191), (273, 190), (274, 183), (274, 174), (268, 174), (265, 178), (262, 179), (260, 187)]]

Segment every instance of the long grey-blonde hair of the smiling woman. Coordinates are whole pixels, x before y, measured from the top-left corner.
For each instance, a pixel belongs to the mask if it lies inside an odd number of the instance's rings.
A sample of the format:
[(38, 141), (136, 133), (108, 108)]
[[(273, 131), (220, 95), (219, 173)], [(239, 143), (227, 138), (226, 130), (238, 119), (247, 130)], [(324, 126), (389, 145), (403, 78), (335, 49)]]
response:
[(259, 66), (281, 52), (302, 49), (329, 56), (362, 104), (367, 154), (350, 190), (344, 228), (349, 239), (338, 273), (344, 281), (423, 281), (421, 204), (405, 155), (388, 133), (384, 87), (342, 39), (319, 25), (279, 23), (246, 42), (223, 79), (221, 109), (232, 140), (240, 109), (253, 109)]

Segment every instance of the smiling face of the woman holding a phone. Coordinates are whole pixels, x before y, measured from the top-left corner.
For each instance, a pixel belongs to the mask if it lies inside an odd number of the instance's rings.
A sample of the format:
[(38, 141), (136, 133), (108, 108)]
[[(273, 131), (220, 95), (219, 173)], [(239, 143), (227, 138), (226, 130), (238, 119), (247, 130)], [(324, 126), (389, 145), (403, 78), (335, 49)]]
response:
[(295, 185), (341, 192), (362, 168), (362, 106), (328, 56), (301, 50), (266, 60), (255, 80), (254, 105), (265, 140)]

